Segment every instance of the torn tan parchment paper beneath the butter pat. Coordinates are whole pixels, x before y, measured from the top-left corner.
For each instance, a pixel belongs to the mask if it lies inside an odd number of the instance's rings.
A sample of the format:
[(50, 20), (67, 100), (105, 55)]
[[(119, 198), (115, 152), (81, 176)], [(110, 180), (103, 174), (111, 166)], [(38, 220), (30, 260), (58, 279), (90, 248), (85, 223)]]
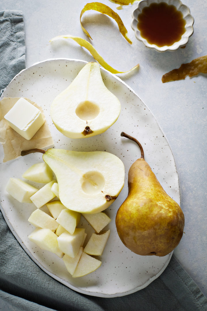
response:
[(19, 100), (19, 97), (3, 98), (0, 101), (0, 142), (2, 143), (4, 150), (3, 162), (16, 159), (21, 155), (22, 150), (29, 150), (32, 148), (41, 149), (54, 144), (43, 109), (30, 99), (25, 99), (41, 111), (45, 123), (30, 140), (26, 140), (14, 131), (7, 123), (7, 120), (4, 119), (5, 114), (14, 106), (17, 100)]

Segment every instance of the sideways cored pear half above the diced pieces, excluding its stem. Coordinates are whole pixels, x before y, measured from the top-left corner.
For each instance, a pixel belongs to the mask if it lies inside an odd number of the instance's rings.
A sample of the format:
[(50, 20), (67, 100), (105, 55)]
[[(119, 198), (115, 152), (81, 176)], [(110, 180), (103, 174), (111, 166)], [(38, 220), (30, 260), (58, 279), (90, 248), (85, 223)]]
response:
[(101, 212), (124, 186), (124, 164), (109, 152), (48, 149), (43, 160), (56, 175), (61, 203), (73, 211)]

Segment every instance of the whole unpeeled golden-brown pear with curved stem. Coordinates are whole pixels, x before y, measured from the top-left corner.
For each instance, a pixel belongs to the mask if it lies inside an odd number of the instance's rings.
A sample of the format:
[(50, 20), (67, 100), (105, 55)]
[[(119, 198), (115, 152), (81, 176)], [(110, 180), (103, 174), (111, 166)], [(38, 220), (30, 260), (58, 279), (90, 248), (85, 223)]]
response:
[(121, 136), (138, 144), (141, 158), (129, 169), (128, 196), (116, 214), (119, 238), (138, 255), (168, 255), (182, 238), (183, 212), (164, 191), (145, 161), (141, 144), (124, 132)]

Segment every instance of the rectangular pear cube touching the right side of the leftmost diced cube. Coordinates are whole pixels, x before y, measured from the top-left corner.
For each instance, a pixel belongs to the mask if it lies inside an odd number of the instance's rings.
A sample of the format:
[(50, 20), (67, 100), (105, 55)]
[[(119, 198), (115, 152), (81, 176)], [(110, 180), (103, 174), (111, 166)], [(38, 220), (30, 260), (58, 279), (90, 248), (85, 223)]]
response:
[(30, 197), (31, 201), (37, 208), (42, 207), (47, 202), (54, 199), (55, 194), (51, 191), (51, 187), (54, 182), (55, 180), (52, 180), (50, 183), (47, 183)]

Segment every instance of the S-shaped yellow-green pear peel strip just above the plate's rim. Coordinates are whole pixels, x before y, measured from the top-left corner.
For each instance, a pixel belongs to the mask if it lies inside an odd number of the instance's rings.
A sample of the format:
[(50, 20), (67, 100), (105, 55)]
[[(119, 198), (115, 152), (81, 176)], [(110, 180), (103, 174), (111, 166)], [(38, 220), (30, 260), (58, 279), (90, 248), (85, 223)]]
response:
[(80, 46), (84, 47), (85, 49), (87, 49), (91, 55), (93, 56), (93, 58), (95, 58), (97, 60), (97, 62), (106, 70), (110, 71), (111, 73), (126, 73), (129, 71), (134, 70), (135, 68), (139, 67), (139, 64), (137, 64), (136, 66), (134, 66), (132, 69), (127, 70), (127, 71), (118, 71), (116, 69), (114, 69), (113, 67), (111, 67), (108, 63), (106, 63), (106, 61), (101, 57), (101, 55), (97, 52), (97, 50), (92, 46), (92, 44), (88, 41), (86, 41), (85, 39), (81, 38), (81, 37), (75, 37), (72, 35), (59, 35), (56, 36), (54, 38), (52, 38), (50, 40), (50, 42), (55, 41), (57, 39), (73, 39), (75, 42), (77, 42)]

